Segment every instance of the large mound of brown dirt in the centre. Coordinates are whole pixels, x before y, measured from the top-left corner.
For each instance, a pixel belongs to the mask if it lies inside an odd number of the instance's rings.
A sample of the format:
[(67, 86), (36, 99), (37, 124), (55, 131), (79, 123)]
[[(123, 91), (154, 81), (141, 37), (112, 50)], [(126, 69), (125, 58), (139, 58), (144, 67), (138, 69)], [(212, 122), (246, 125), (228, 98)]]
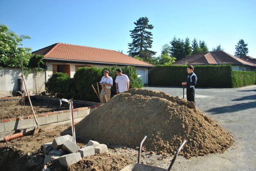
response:
[(76, 125), (80, 135), (102, 143), (144, 147), (159, 154), (174, 154), (187, 140), (185, 157), (225, 151), (233, 137), (201, 110), (160, 91), (131, 89), (114, 96)]

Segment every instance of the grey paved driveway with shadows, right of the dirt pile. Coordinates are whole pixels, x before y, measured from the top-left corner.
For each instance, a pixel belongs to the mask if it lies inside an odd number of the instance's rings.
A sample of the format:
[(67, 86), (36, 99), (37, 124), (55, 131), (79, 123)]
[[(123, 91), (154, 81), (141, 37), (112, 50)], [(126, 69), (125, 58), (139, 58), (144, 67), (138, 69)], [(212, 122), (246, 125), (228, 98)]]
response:
[[(181, 87), (144, 88), (161, 90), (171, 96), (183, 95)], [(192, 159), (178, 157), (172, 170), (256, 171), (256, 86), (233, 89), (196, 88), (195, 93), (197, 107), (230, 132), (236, 142), (223, 154), (209, 154)]]

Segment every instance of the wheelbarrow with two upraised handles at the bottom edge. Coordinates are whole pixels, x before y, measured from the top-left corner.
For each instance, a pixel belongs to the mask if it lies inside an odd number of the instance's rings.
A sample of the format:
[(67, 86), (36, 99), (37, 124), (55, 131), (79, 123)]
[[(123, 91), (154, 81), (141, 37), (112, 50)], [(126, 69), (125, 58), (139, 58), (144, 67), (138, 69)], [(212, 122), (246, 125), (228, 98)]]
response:
[(145, 165), (145, 164), (140, 164), (140, 152), (141, 152), (141, 147), (143, 145), (143, 142), (145, 141), (145, 139), (147, 138), (147, 136), (145, 136), (143, 138), (143, 140), (140, 142), (140, 148), (139, 148), (139, 154), (138, 154), (138, 163), (134, 163), (131, 165), (127, 165), (125, 166), (125, 168), (123, 168), (121, 171), (170, 171), (172, 168), (172, 165), (175, 162), (176, 157), (178, 156), (178, 154), (180, 153), (181, 148), (183, 148), (183, 146), (186, 144), (186, 140), (183, 141), (183, 143), (180, 145), (180, 147), (178, 148), (178, 150), (176, 151), (175, 156), (172, 159), (172, 162), (169, 166), (169, 168), (166, 170), (164, 168), (159, 168), (159, 167), (155, 167), (155, 166), (151, 166), (151, 165)]

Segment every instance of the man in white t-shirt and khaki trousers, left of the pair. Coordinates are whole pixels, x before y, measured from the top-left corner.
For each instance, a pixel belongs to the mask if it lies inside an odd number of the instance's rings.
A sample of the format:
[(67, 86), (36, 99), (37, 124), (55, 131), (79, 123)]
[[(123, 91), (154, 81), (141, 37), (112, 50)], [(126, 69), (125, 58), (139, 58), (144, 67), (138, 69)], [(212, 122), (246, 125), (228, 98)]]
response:
[[(100, 85), (102, 86), (102, 90), (100, 92), (100, 102), (105, 103), (110, 99), (111, 96), (111, 86), (113, 86), (113, 79), (111, 76), (109, 76), (109, 71), (104, 70), (103, 71), (104, 76), (102, 77), (101, 81), (99, 82)], [(106, 98), (107, 101), (105, 101), (105, 94), (104, 91), (106, 92)]]

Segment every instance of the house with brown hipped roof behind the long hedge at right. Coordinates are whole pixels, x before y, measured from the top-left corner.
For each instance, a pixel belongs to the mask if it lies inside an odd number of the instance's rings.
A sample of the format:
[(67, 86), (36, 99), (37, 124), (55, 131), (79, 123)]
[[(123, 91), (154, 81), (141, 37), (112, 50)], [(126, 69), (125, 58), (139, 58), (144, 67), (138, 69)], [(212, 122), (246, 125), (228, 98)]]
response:
[(183, 58), (173, 63), (173, 65), (232, 65), (233, 70), (238, 71), (254, 71), (256, 72), (256, 64), (237, 58), (223, 51), (200, 52)]

